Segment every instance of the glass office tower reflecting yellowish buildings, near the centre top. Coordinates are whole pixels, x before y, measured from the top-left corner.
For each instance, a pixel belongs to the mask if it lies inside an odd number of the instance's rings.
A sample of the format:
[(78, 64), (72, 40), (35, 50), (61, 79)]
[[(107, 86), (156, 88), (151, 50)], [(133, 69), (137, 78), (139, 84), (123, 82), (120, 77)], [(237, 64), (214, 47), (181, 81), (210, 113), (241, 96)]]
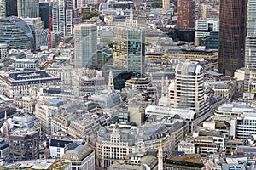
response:
[(113, 28), (113, 66), (125, 71), (145, 72), (145, 31), (136, 26)]

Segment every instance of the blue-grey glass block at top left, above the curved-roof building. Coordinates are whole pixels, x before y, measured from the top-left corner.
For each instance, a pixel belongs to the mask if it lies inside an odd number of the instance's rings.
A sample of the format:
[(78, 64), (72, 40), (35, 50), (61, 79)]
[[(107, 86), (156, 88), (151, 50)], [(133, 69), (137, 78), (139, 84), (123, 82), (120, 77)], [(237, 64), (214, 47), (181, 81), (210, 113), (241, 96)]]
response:
[(17, 0), (17, 8), (18, 17), (39, 17), (39, 0)]

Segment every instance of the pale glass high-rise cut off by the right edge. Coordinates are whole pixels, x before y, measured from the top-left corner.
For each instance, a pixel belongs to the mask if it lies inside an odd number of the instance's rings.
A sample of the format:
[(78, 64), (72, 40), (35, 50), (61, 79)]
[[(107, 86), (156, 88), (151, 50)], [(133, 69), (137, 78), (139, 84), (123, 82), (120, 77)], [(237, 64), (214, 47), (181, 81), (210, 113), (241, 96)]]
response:
[(245, 81), (244, 88), (256, 88), (256, 1), (247, 2), (247, 37), (245, 54)]

